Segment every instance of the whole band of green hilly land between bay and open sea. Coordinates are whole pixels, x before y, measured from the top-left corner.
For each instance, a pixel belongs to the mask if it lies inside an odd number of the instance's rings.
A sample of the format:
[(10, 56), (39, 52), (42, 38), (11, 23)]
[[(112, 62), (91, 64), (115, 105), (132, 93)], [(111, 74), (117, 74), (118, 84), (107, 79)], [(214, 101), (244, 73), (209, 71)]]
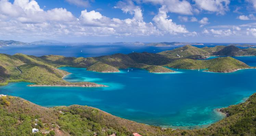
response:
[[(210, 55), (226, 57), (200, 60)], [(8, 82), (30, 82), (30, 86), (84, 86), (103, 87), (90, 82), (69, 83), (62, 78), (69, 74), (57, 69), (62, 66), (87, 68), (97, 72), (119, 72), (119, 69), (142, 68), (151, 73), (175, 72), (169, 68), (206, 69), (211, 72), (233, 72), (254, 68), (229, 56), (256, 55), (256, 49), (239, 49), (235, 46), (197, 48), (184, 46), (159, 53), (113, 54), (100, 57), (64, 57), (46, 55), (41, 57), (15, 54), (0, 54), (0, 85)], [(169, 67), (169, 68), (166, 68)]]

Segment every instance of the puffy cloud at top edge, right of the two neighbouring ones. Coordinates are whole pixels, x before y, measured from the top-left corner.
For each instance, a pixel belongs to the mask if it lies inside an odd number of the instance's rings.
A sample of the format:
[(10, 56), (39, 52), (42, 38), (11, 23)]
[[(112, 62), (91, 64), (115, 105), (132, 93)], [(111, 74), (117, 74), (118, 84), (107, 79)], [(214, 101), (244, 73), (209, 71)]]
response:
[(197, 7), (201, 10), (216, 12), (224, 15), (229, 10), (230, 0), (194, 0)]

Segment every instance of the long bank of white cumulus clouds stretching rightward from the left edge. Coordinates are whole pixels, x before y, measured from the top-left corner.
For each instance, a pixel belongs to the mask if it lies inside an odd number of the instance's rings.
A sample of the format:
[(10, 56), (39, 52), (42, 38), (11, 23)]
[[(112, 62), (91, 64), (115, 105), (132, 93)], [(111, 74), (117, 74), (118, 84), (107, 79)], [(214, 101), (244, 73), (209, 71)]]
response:
[[(182, 1), (180, 1), (182, 3)], [(169, 19), (167, 6), (159, 8), (152, 22), (145, 22), (143, 10), (131, 0), (119, 1), (115, 8), (131, 18), (119, 19), (99, 11), (83, 10), (75, 17), (65, 8), (44, 10), (35, 0), (0, 0), (0, 35), (49, 38), (56, 36), (148, 36), (185, 34), (196, 36), (185, 26)], [(193, 18), (194, 20), (196, 18)], [(192, 21), (192, 18), (189, 18)]]

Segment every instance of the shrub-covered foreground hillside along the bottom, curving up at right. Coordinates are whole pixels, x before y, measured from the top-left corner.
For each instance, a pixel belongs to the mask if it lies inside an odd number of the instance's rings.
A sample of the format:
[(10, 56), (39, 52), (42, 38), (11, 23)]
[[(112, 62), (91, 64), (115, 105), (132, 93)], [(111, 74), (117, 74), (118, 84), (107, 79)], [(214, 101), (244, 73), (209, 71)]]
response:
[[(99, 109), (72, 105), (45, 108), (17, 97), (0, 98), (0, 136), (31, 135), (32, 128), (40, 132), (55, 131), (57, 135), (85, 135), (97, 133), (107, 136), (129, 136), (138, 132), (143, 136), (254, 136), (256, 135), (256, 94), (246, 102), (221, 109), (228, 114), (206, 129), (161, 129), (115, 117)], [(35, 125), (38, 119), (38, 125)], [(52, 125), (53, 124), (53, 125)], [(39, 133), (40, 135), (40, 133)]]

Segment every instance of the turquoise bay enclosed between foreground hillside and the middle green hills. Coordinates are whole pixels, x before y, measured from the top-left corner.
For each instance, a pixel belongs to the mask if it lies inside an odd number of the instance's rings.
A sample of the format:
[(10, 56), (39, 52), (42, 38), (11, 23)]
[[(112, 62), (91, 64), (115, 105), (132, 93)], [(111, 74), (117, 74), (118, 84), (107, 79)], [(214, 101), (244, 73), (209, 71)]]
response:
[[(255, 60), (254, 60), (255, 61)], [(62, 67), (70, 82), (90, 81), (109, 87), (28, 87), (10, 83), (0, 94), (22, 97), (42, 106), (88, 105), (150, 125), (200, 128), (222, 119), (216, 108), (240, 103), (255, 90), (256, 69), (234, 73), (176, 70), (154, 74), (142, 69), (98, 73)]]

